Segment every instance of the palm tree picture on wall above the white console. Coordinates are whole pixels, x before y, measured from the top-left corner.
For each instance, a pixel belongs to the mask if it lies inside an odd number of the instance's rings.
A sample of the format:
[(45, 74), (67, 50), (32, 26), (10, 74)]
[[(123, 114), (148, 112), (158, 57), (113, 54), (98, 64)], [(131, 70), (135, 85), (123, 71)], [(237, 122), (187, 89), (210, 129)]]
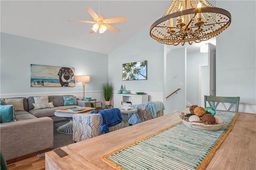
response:
[(147, 61), (137, 61), (123, 64), (122, 80), (146, 80)]

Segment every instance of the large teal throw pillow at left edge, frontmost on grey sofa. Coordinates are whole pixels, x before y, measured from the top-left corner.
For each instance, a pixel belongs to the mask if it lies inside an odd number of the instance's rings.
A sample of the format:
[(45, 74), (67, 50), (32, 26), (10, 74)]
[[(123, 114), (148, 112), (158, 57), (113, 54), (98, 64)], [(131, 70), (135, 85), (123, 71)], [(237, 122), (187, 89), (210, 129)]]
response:
[(0, 112), (1, 112), (0, 114), (1, 123), (18, 121), (16, 119), (16, 114), (15, 114), (13, 105), (0, 106)]

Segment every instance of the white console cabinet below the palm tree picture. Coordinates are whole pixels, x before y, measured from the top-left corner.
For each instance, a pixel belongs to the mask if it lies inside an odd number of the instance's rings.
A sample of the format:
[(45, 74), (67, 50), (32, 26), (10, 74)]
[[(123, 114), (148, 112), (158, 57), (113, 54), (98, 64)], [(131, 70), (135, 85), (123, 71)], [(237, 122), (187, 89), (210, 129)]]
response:
[(129, 105), (140, 105), (148, 102), (148, 95), (137, 94), (114, 94), (114, 107), (128, 107)]

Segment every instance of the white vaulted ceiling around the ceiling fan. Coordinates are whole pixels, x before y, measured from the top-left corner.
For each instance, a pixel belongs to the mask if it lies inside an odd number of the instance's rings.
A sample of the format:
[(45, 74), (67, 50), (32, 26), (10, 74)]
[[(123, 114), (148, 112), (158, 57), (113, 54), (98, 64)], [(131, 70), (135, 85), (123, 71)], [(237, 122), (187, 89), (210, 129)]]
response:
[[(171, 0), (1, 0), (0, 3), (1, 32), (108, 54), (162, 17)], [(93, 20), (85, 7), (105, 18), (125, 16), (127, 21), (111, 24), (120, 29), (120, 33), (107, 30), (103, 34), (89, 34), (93, 24), (68, 22)], [(188, 51), (198, 50), (200, 45), (195, 45), (197, 49), (190, 45)]]

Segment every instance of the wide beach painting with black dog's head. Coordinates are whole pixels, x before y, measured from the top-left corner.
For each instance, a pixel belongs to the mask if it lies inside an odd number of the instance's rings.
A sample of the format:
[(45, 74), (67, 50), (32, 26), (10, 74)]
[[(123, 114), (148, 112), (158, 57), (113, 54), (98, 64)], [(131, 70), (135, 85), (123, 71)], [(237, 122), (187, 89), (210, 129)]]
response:
[(31, 64), (31, 87), (75, 87), (75, 69)]

